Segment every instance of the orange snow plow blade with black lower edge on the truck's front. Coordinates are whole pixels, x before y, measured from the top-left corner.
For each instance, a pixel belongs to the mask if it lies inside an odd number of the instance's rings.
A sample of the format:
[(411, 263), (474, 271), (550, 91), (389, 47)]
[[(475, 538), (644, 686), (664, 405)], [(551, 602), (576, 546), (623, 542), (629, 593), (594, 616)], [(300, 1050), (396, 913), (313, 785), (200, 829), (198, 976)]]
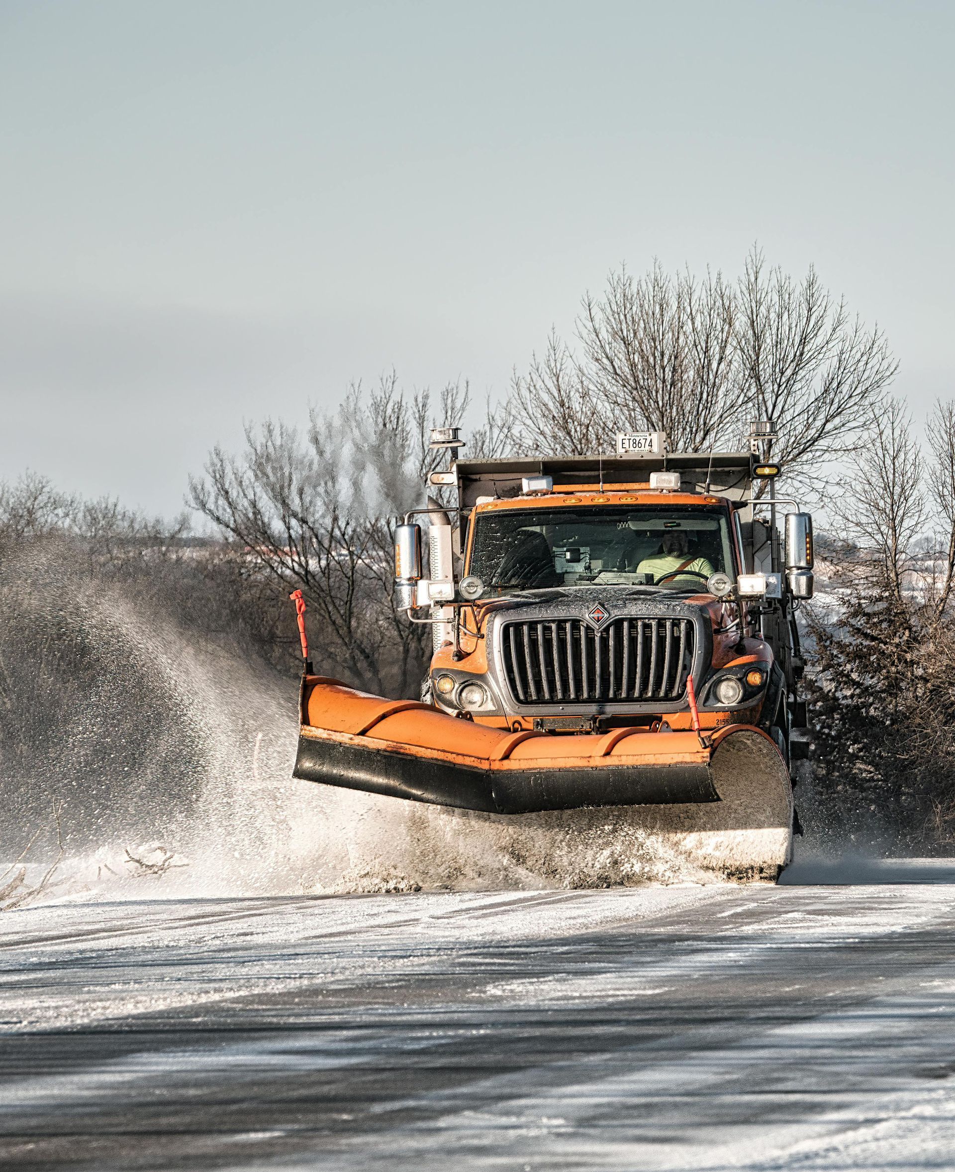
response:
[(295, 776), (492, 815), (640, 806), (706, 866), (789, 861), (792, 795), (775, 743), (750, 725), (712, 736), (620, 728), (552, 735), (488, 728), (337, 680), (302, 681)]

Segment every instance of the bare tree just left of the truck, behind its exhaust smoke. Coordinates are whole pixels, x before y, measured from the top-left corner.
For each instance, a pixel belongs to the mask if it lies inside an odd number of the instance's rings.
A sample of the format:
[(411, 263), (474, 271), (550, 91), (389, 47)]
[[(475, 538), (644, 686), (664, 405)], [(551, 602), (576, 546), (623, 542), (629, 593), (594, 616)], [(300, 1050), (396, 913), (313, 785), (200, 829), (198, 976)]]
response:
[(391, 518), (421, 503), (437, 466), (432, 425), (459, 422), (468, 389), (405, 395), (394, 374), (366, 394), (353, 384), (334, 415), (312, 410), (304, 435), (267, 421), (246, 429), (246, 448), (220, 448), (192, 478), (198, 510), (283, 591), (302, 590), (316, 656), (376, 690), (413, 689), (430, 629), (392, 599)]

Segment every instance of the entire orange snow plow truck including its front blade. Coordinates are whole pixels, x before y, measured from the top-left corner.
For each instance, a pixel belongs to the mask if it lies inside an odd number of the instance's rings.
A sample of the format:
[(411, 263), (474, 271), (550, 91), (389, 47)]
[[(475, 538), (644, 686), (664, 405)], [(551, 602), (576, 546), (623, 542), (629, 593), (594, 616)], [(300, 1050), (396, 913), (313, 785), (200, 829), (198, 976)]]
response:
[(617, 456), (467, 461), (458, 428), (432, 431), (448, 466), (394, 529), (397, 605), (433, 633), (421, 697), (307, 660), (295, 776), (490, 817), (627, 806), (703, 868), (775, 878), (813, 579), (772, 438), (763, 421), (749, 451), (647, 432)]

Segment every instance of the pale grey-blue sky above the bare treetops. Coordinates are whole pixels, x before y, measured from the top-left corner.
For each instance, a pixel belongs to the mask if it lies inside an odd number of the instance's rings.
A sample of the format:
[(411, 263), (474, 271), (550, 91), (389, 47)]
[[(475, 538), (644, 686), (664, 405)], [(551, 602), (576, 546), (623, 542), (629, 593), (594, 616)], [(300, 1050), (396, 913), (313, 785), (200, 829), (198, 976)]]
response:
[(955, 395), (955, 4), (0, 0), (0, 479), (150, 512), (610, 270), (815, 264)]

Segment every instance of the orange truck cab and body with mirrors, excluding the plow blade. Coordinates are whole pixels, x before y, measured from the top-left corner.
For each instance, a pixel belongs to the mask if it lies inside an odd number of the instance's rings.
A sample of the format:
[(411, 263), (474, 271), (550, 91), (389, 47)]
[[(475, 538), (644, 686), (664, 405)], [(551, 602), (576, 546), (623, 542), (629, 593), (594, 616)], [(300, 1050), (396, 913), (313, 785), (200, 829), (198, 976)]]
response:
[(453, 459), (420, 511), (430, 578), (418, 517), (397, 533), (397, 588), (433, 627), (422, 699), (555, 736), (746, 724), (804, 756), (811, 518), (778, 471), (758, 449)]

